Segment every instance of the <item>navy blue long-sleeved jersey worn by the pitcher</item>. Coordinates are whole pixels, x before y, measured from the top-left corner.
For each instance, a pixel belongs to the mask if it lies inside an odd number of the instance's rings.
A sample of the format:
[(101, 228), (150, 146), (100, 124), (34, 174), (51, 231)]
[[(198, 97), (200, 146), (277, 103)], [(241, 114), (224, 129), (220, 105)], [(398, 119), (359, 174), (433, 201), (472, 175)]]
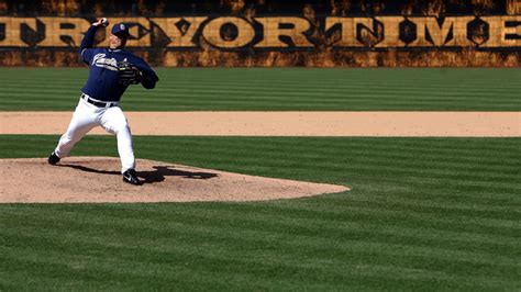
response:
[(143, 74), (142, 85), (152, 89), (159, 80), (142, 58), (124, 49), (93, 48), (98, 26), (90, 26), (80, 46), (81, 59), (89, 65), (89, 79), (81, 91), (100, 101), (120, 101), (128, 86), (118, 82), (118, 61), (126, 60)]

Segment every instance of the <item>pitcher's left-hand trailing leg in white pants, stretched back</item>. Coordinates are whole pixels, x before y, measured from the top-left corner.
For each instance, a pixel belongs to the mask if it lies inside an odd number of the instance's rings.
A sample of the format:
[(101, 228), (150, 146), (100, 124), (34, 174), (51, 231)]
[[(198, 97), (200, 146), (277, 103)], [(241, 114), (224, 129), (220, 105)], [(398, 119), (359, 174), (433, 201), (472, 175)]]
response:
[[(98, 125), (96, 106), (80, 100), (70, 120), (67, 132), (59, 138), (54, 155), (59, 158), (69, 156), (74, 145), (78, 143), (90, 130)], [(51, 161), (49, 161), (51, 162)]]

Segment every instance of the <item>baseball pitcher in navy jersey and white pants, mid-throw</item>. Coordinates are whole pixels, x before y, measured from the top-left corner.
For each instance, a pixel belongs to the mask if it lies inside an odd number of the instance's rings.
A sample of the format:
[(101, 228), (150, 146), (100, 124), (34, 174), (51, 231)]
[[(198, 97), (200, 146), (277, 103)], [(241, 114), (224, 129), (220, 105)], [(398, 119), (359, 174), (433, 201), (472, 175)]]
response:
[(129, 37), (129, 29), (123, 23), (112, 27), (109, 48), (95, 48), (96, 30), (107, 25), (104, 18), (92, 23), (81, 42), (81, 59), (89, 66), (89, 78), (67, 132), (59, 138), (48, 162), (56, 165), (67, 157), (74, 145), (99, 125), (118, 138), (123, 181), (138, 186), (142, 182), (135, 172), (132, 135), (119, 102), (130, 85), (141, 83), (153, 89), (159, 78), (142, 58), (123, 49)]

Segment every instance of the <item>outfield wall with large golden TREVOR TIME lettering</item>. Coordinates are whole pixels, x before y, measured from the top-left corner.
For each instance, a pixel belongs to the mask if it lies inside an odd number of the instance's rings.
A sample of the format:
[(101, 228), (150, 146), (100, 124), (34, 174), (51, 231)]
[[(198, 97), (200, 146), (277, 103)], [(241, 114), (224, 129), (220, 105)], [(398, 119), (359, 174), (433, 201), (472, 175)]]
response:
[[(154, 66), (519, 67), (521, 15), (110, 18)], [(80, 66), (95, 18), (1, 16), (1, 66)], [(107, 45), (99, 30), (97, 44)]]

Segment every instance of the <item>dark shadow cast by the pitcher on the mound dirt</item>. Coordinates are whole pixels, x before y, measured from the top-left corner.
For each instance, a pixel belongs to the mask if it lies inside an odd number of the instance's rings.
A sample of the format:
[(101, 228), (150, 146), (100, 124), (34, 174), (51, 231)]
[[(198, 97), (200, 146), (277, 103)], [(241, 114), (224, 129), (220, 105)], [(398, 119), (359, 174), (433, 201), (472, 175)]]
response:
[[(79, 165), (58, 165), (58, 166), (70, 167), (70, 168), (78, 169), (86, 172), (121, 176), (120, 171), (100, 170), (100, 169), (95, 169), (95, 168), (79, 166)], [(211, 173), (211, 172), (186, 171), (186, 170), (175, 169), (174, 166), (154, 166), (152, 168), (154, 168), (155, 170), (136, 171), (137, 178), (141, 179), (142, 183), (162, 182), (165, 180), (165, 177), (182, 177), (186, 179), (211, 179), (218, 176), (217, 173)]]

